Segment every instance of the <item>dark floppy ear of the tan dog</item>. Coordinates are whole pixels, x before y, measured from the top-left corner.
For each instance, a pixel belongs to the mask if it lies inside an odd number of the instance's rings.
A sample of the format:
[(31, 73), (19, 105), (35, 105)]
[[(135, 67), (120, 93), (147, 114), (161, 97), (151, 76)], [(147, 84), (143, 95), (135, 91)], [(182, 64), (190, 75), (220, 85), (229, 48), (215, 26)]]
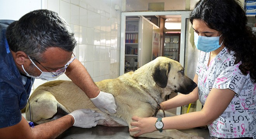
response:
[(167, 82), (168, 82), (168, 74), (171, 70), (171, 64), (168, 63), (163, 66), (163, 64), (160, 64), (159, 66), (156, 66), (154, 69), (152, 76), (154, 81), (158, 86), (161, 88), (166, 87)]

